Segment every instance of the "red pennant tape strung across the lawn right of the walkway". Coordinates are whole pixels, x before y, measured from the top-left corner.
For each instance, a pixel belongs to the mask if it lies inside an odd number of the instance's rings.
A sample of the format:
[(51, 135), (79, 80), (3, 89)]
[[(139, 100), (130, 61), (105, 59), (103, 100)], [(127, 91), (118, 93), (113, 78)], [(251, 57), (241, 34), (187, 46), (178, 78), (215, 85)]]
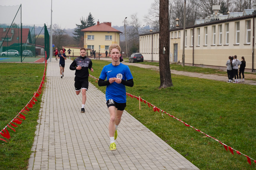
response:
[[(165, 114), (168, 114), (168, 113), (166, 113), (165, 111), (163, 111), (163, 110), (157, 108), (156, 106), (152, 105), (151, 103), (145, 101), (145, 100), (142, 99), (142, 98), (139, 98), (139, 97), (137, 97), (137, 96), (135, 96), (135, 95), (132, 95), (132, 94), (129, 94), (129, 93), (126, 93), (126, 95), (130, 96), (131, 98), (136, 98), (136, 99), (140, 100), (141, 102), (144, 102), (145, 104), (147, 103), (149, 107), (151, 106), (151, 107), (153, 108), (153, 111), (158, 111), (158, 112), (161, 111), (161, 112), (162, 112), (162, 117), (163, 117), (163, 112), (164, 112)], [(220, 140), (217, 140), (216, 138), (211, 137), (211, 136), (205, 134), (205, 133), (202, 132), (201, 130), (196, 129), (196, 128), (193, 127), (193, 126), (190, 126), (189, 124), (183, 122), (182, 120), (180, 120), (180, 119), (178, 119), (178, 118), (176, 118), (176, 117), (174, 117), (174, 116), (172, 116), (172, 115), (170, 115), (170, 114), (168, 114), (168, 115), (171, 116), (171, 117), (173, 117), (174, 119), (177, 119), (177, 120), (179, 120), (180, 122), (184, 123), (185, 126), (192, 127), (193, 129), (195, 129), (195, 130), (198, 131), (198, 132), (203, 133), (203, 134), (206, 135), (207, 137), (210, 137), (210, 138), (216, 140), (216, 141), (219, 142), (221, 145), (223, 145), (224, 148), (225, 148), (227, 151), (229, 150), (229, 151), (234, 155), (233, 150), (235, 150), (235, 149), (233, 149), (233, 148), (231, 148), (230, 146), (228, 146), (228, 145), (222, 143)], [(247, 156), (247, 155), (245, 155), (245, 154), (239, 152), (238, 150), (235, 150), (235, 151), (236, 151), (236, 153), (237, 153), (238, 155), (241, 155), (241, 154), (242, 154), (242, 155), (246, 156), (246, 157), (247, 157), (247, 161), (248, 161), (248, 163), (249, 163), (250, 165), (251, 165), (251, 159), (256, 163), (255, 159), (250, 158), (249, 156)]]

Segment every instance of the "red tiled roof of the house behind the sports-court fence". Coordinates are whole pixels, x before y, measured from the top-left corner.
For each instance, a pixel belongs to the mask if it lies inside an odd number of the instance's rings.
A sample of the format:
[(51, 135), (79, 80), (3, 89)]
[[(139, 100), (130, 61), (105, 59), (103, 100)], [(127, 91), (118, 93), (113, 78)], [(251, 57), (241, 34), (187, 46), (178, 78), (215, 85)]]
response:
[[(0, 37), (1, 38), (5, 37), (8, 29), (9, 28), (6, 28), (6, 30), (4, 31), (4, 28), (0, 28)], [(12, 35), (12, 29), (14, 29), (13, 35)], [(14, 43), (20, 43), (20, 30), (21, 30), (20, 28), (10, 28), (7, 35), (8, 35), (8, 38), (12, 36), (12, 41), (8, 41), (8, 46), (10, 46)], [(30, 32), (29, 28), (22, 28), (22, 43), (27, 42), (29, 32)], [(18, 37), (19, 37), (19, 39), (17, 39)], [(29, 40), (31, 40), (31, 38)], [(4, 41), (2, 46), (7, 46), (7, 41)]]

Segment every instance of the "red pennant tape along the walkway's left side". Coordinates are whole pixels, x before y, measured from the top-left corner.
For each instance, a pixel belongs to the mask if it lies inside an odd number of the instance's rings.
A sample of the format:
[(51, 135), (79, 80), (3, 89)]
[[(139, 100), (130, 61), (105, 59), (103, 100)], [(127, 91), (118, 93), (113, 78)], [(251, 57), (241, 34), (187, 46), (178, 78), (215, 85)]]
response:
[[(10, 139), (10, 134), (9, 134), (9, 131), (7, 129), (7, 127), (11, 128), (14, 132), (15, 129), (13, 127), (18, 127), (17, 124), (21, 124), (22, 123), (22, 120), (25, 120), (26, 119), (26, 116), (24, 116), (23, 114), (28, 114), (28, 111), (29, 109), (28, 108), (32, 108), (34, 106), (36, 98), (38, 98), (40, 96), (40, 94), (42, 93), (42, 87), (43, 87), (43, 84), (44, 84), (44, 79), (45, 79), (45, 76), (46, 76), (46, 63), (47, 63), (47, 56), (46, 56), (46, 51), (45, 51), (45, 64), (44, 64), (44, 75), (43, 75), (43, 78), (42, 78), (42, 81), (39, 85), (39, 88), (37, 89), (37, 91), (34, 93), (33, 97), (30, 99), (30, 101), (26, 104), (25, 107), (23, 107), (23, 109), (21, 109), (21, 111), (11, 120), (11, 122), (9, 122), (6, 127), (4, 127), (4, 129), (1, 130), (0, 132), (0, 135), (2, 135), (3, 137), (7, 138), (7, 139)], [(14, 124), (16, 123), (16, 124)], [(11, 126), (13, 127), (11, 127)], [(4, 139), (1, 139), (0, 140), (3, 140), (5, 142), (7, 142), (6, 140)]]

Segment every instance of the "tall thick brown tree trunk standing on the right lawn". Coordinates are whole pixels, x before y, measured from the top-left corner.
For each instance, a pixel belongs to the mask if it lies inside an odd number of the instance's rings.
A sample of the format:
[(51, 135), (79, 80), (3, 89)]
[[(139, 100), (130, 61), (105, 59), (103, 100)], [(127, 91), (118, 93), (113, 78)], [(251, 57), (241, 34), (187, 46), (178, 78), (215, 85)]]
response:
[[(170, 33), (169, 33), (169, 0), (160, 0), (159, 3), (159, 70), (160, 87), (173, 86), (170, 71)], [(165, 48), (165, 51), (164, 51)], [(165, 53), (165, 54), (163, 54)]]

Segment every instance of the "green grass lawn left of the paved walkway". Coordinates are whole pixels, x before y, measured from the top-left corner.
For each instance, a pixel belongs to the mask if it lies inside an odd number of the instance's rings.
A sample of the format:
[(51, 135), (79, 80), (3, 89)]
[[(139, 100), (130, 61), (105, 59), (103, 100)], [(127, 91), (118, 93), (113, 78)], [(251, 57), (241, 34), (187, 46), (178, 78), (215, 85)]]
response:
[[(0, 128), (1, 130), (23, 109), (38, 89), (44, 73), (44, 64), (0, 63)], [(0, 141), (0, 169), (25, 170), (31, 154), (40, 109), (41, 96), (26, 116), (26, 120), (9, 127), (8, 143)], [(12, 126), (11, 126), (12, 127)]]

